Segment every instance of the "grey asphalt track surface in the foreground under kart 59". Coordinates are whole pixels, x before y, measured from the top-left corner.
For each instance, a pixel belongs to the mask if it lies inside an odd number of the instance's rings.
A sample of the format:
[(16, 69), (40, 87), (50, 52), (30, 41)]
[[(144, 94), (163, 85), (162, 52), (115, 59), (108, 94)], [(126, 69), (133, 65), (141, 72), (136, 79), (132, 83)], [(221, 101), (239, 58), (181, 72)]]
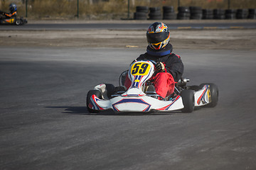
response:
[(90, 114), (87, 91), (117, 85), (144, 49), (0, 47), (0, 169), (256, 169), (255, 51), (175, 50), (215, 108)]

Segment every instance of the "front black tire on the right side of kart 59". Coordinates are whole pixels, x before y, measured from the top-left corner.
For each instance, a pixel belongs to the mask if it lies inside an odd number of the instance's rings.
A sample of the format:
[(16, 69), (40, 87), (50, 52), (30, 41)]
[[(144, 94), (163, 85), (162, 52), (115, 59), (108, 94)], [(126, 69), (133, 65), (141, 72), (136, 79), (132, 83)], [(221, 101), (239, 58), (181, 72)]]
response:
[(195, 97), (193, 90), (181, 91), (181, 98), (184, 108), (181, 110), (183, 113), (191, 113), (195, 108)]

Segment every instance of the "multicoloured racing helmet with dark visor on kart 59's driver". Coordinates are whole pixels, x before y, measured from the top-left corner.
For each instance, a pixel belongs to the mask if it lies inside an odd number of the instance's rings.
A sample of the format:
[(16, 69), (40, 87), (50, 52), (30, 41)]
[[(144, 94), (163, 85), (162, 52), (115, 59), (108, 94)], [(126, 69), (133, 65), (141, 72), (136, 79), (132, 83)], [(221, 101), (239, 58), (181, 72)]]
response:
[(152, 23), (146, 31), (146, 40), (153, 50), (161, 50), (170, 41), (170, 32), (164, 23)]

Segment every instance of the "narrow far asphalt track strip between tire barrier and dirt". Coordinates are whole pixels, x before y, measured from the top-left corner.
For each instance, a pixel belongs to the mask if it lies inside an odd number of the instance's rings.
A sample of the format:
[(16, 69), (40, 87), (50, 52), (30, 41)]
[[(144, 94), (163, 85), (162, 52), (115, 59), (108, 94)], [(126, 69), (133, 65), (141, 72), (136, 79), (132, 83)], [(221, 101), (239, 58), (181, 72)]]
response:
[[(139, 30), (148, 28), (150, 23), (28, 23), (24, 26), (9, 26), (2, 25), (0, 30), (98, 30), (98, 29), (110, 29), (110, 30)], [(152, 22), (152, 21), (151, 21)], [(165, 21), (164, 21), (165, 22)], [(256, 28), (256, 22), (216, 22), (212, 23), (169, 23), (166, 21), (169, 29), (229, 29), (229, 28)]]

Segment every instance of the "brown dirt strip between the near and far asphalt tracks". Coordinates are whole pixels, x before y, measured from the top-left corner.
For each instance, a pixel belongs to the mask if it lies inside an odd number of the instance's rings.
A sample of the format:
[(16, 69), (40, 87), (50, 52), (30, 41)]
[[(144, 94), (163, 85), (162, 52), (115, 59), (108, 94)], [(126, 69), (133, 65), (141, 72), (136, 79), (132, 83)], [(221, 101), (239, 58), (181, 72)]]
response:
[[(256, 50), (256, 29), (170, 30), (177, 49)], [(1, 45), (146, 47), (146, 30), (1, 30)]]

